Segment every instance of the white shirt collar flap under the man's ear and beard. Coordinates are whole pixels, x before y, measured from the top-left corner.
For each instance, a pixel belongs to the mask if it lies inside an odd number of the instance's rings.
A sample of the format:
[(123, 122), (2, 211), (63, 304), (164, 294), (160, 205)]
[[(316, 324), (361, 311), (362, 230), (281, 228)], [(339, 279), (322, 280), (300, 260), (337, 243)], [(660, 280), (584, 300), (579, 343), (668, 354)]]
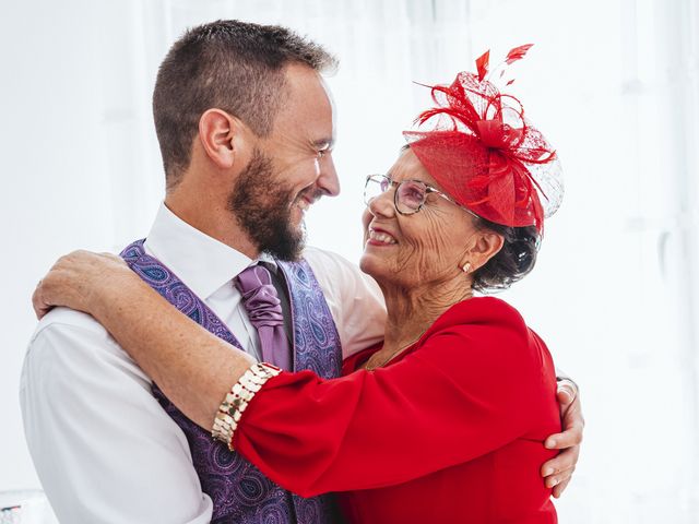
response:
[(145, 246), (202, 299), (257, 262), (190, 226), (165, 203), (161, 204)]

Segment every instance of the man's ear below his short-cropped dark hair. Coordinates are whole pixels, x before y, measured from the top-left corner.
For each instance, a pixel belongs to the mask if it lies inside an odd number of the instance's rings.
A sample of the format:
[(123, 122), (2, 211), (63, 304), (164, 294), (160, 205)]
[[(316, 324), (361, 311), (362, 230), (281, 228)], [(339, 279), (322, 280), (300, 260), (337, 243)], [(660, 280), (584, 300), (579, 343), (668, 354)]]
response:
[(217, 167), (233, 167), (240, 155), (245, 124), (221, 109), (208, 109), (199, 119), (199, 141)]

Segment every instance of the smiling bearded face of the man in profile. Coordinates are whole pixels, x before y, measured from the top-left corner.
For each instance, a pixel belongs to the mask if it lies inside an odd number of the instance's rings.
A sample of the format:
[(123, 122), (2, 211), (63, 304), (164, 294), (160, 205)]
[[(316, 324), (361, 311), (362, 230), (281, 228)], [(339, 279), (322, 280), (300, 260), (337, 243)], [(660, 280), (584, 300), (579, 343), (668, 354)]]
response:
[(320, 75), (289, 66), (281, 109), (260, 140), (228, 199), (229, 209), (260, 251), (283, 260), (304, 247), (304, 216), (340, 183), (332, 160), (333, 106)]

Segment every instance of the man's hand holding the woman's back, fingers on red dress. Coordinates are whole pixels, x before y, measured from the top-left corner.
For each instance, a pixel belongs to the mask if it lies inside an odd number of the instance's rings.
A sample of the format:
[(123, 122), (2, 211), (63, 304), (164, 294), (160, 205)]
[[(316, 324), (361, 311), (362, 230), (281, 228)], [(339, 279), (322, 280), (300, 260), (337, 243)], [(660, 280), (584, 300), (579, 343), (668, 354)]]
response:
[(553, 495), (559, 498), (564, 492), (576, 464), (580, 456), (580, 443), (585, 421), (582, 418), (578, 388), (570, 380), (558, 382), (558, 404), (560, 405), (560, 419), (562, 433), (552, 434), (546, 439), (545, 445), (549, 450), (561, 450), (560, 453), (542, 466), (542, 477), (546, 487), (554, 488)]

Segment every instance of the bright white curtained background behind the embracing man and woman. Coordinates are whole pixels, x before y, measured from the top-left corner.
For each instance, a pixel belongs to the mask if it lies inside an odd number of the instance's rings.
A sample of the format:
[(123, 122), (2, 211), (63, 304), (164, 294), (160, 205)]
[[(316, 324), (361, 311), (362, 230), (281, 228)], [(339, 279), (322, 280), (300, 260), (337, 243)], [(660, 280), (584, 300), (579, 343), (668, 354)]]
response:
[(185, 27), (221, 17), (288, 25), (340, 57), (343, 192), (308, 231), (355, 261), (363, 178), (390, 167), (429, 103), (412, 81), (535, 44), (512, 94), (557, 146), (567, 194), (505, 298), (582, 389), (560, 521), (699, 522), (696, 0), (1, 0), (0, 491), (39, 487), (17, 405), (34, 284), (63, 252), (147, 233), (163, 196), (157, 66)]

